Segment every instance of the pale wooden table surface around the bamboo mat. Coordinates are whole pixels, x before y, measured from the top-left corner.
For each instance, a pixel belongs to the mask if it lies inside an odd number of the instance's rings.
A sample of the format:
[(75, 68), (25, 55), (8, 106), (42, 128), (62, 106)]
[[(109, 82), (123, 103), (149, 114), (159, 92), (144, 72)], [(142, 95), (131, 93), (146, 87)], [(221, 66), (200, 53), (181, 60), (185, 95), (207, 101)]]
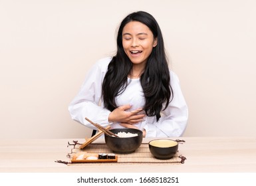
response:
[[(170, 138), (176, 140), (177, 138)], [(9, 139), (0, 142), (0, 172), (176, 172), (235, 173), (256, 172), (256, 138), (247, 137), (180, 137), (185, 143), (179, 152), (187, 159), (178, 165), (74, 165), (56, 163), (65, 160), (68, 141), (83, 139)], [(95, 142), (102, 142), (98, 139)], [(152, 138), (144, 138), (148, 142)], [(100, 167), (100, 169), (99, 169)]]

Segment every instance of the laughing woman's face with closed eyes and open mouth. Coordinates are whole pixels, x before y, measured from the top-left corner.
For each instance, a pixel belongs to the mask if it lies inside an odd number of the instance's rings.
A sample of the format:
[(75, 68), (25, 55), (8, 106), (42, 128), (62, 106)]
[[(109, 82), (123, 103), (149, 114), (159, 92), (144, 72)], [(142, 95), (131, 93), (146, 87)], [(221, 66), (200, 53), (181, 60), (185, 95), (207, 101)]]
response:
[(157, 39), (143, 23), (131, 21), (124, 26), (122, 46), (134, 65), (146, 66), (148, 56), (156, 45)]

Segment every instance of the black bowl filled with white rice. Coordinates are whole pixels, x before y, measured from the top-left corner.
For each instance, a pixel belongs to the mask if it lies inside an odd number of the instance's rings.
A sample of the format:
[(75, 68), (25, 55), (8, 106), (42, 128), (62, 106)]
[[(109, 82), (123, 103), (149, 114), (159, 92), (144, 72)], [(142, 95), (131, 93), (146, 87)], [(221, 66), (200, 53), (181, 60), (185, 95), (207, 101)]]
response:
[(133, 153), (142, 144), (141, 130), (134, 128), (116, 128), (109, 130), (120, 138), (104, 134), (106, 145), (114, 153)]

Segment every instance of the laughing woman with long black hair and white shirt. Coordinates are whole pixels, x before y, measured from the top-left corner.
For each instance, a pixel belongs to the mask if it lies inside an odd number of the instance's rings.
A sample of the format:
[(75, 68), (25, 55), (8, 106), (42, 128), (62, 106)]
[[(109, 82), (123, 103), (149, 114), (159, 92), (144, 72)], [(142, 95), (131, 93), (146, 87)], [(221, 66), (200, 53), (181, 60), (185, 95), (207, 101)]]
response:
[(182, 136), (188, 107), (152, 15), (138, 11), (124, 18), (116, 55), (94, 64), (68, 110), (94, 130), (84, 118), (104, 127), (137, 128), (144, 137)]

